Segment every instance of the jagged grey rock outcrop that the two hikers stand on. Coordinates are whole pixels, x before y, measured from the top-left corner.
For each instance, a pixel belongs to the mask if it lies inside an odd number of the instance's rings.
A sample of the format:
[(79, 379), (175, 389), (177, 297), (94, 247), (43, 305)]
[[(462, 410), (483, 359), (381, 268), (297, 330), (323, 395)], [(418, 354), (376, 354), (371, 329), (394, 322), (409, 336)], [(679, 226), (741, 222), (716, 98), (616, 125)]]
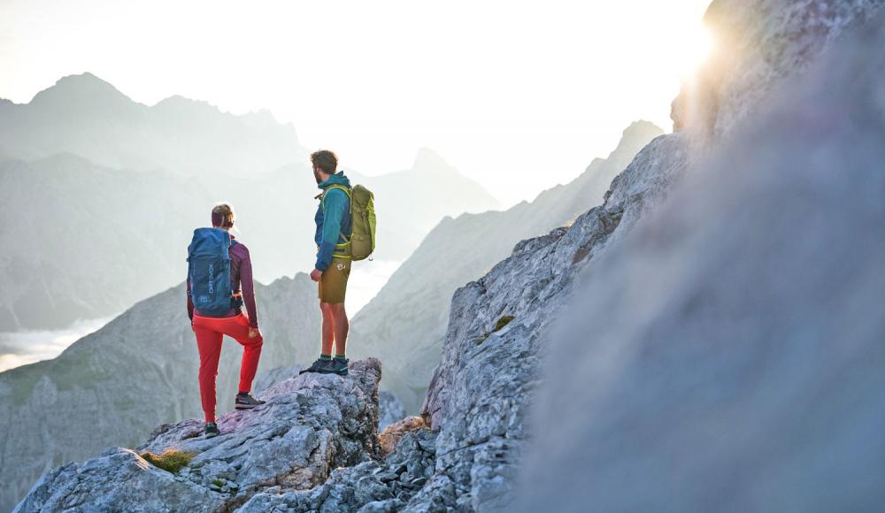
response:
[[(267, 390), (265, 405), (219, 417), (218, 437), (204, 438), (197, 420), (162, 425), (135, 451), (110, 448), (47, 472), (16, 511), (219, 511), (271, 487), (309, 490), (336, 467), (375, 464), (380, 379), (374, 359), (351, 363), (347, 377), (287, 379)], [(188, 454), (189, 463), (171, 472), (140, 456), (169, 449)]]

